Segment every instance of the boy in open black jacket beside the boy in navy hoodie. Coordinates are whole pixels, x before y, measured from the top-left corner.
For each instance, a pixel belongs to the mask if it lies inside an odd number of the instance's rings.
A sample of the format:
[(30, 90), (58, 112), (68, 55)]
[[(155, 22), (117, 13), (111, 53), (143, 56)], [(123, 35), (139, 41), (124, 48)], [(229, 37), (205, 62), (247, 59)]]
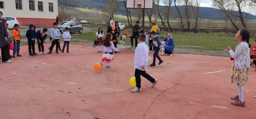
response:
[[(44, 52), (43, 43), (44, 43), (45, 40), (46, 40), (47, 31), (48, 31), (47, 28), (43, 28), (42, 30), (39, 29), (39, 30), (37, 31), (37, 33), (36, 33), (36, 39), (37, 39), (38, 50), (39, 50), (39, 54), (40, 54), (40, 55), (46, 54), (46, 53)], [(42, 50), (41, 50), (41, 48), (42, 48)]]

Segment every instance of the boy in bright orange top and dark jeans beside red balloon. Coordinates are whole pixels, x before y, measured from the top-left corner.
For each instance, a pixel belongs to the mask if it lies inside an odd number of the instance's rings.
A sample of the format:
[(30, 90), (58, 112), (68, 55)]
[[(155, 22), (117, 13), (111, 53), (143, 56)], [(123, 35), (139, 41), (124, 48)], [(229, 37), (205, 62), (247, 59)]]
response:
[(15, 57), (16, 51), (18, 57), (21, 57), (20, 55), (20, 45), (21, 45), (21, 36), (20, 36), (20, 31), (19, 31), (20, 25), (14, 24), (14, 28), (12, 30), (12, 37), (13, 37), (13, 42), (14, 42), (14, 49), (13, 49), (13, 58)]

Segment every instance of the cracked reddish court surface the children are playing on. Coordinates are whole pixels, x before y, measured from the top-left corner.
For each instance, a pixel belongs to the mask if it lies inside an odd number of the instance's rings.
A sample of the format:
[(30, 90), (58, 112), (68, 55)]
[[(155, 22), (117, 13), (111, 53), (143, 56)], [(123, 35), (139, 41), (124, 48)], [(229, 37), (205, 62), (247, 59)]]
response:
[(131, 93), (134, 50), (121, 49), (114, 54), (111, 68), (95, 71), (93, 65), (101, 61), (102, 53), (86, 45), (69, 49), (70, 53), (29, 57), (27, 46), (22, 46), (22, 57), (0, 64), (2, 118), (255, 119), (256, 72), (250, 68), (244, 88), (246, 106), (231, 105), (230, 96), (237, 89), (228, 82), (232, 68), (228, 57), (161, 56), (164, 63), (147, 70), (159, 79), (156, 86), (151, 88), (142, 78), (142, 92)]

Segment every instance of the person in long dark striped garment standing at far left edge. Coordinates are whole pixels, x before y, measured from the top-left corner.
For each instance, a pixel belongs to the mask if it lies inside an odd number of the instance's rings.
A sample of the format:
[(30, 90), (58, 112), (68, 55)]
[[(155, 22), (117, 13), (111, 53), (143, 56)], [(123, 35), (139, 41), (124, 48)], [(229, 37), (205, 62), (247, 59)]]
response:
[[(4, 21), (2, 19), (3, 13), (0, 12), (0, 47), (1, 47), (1, 55), (2, 55), (2, 62), (4, 63), (11, 63), (8, 59), (8, 51), (7, 51), (7, 32), (5, 31)], [(0, 57), (1, 58), (1, 57)]]

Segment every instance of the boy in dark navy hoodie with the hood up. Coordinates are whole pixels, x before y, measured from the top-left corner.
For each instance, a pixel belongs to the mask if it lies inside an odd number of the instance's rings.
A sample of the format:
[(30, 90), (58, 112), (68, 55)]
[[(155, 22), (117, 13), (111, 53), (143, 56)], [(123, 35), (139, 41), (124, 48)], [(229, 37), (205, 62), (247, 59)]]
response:
[[(26, 37), (28, 39), (28, 52), (29, 56), (37, 56), (35, 53), (35, 39), (36, 39), (36, 27), (33, 24), (29, 25), (29, 29), (27, 30)], [(31, 52), (32, 47), (32, 52)]]

